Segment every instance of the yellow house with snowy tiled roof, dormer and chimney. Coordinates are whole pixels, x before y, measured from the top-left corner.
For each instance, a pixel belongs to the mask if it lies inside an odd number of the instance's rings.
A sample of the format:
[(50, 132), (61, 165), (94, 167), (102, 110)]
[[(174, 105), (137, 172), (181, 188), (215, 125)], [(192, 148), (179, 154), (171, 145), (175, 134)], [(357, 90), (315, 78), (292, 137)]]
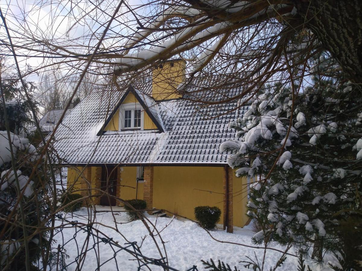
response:
[(218, 206), (228, 232), (243, 227), (248, 181), (235, 177), (218, 150), (235, 137), (228, 124), (243, 108), (229, 112), (236, 102), (205, 107), (193, 101), (226, 96), (199, 91), (194, 81), (181, 98), (175, 90), (185, 80), (183, 60), (165, 61), (152, 72), (149, 84), (96, 89), (68, 113), (54, 145), (68, 166), (68, 188), (95, 204), (144, 199), (150, 210), (190, 219), (196, 206)]

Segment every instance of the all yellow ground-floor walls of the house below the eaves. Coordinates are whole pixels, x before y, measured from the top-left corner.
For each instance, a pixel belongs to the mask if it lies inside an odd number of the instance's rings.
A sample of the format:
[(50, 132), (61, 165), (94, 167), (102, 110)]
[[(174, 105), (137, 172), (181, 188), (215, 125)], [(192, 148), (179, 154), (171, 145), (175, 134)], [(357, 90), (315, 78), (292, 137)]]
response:
[[(82, 167), (68, 168), (68, 187), (80, 189)], [(120, 167), (122, 199), (136, 198), (137, 167)], [(95, 188), (96, 167), (91, 169), (92, 194)], [(194, 207), (217, 206), (223, 212), (223, 167), (154, 167), (153, 168), (153, 207), (194, 219)], [(76, 179), (78, 178), (78, 179)], [(204, 190), (204, 191), (202, 191)], [(143, 183), (138, 183), (137, 198), (143, 199)], [(243, 227), (247, 203), (247, 179), (233, 175), (233, 224)], [(223, 214), (219, 223), (222, 224)]]

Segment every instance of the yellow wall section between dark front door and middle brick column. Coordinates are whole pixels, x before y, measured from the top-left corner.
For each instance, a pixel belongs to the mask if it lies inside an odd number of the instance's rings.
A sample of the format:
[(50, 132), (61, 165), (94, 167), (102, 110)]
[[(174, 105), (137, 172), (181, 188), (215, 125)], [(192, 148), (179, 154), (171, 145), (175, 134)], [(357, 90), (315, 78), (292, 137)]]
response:
[[(137, 167), (122, 167), (121, 168), (121, 199), (135, 199), (136, 198), (136, 186), (137, 186)], [(124, 185), (124, 186), (122, 186)], [(143, 199), (143, 182), (138, 183), (137, 187), (137, 199)]]

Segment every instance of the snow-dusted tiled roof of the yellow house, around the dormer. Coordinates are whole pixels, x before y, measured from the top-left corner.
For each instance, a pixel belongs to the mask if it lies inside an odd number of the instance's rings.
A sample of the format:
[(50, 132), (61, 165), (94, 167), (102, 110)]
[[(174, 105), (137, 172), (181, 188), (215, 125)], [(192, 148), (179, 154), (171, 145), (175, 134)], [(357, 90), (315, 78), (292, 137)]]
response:
[[(197, 93), (190, 84), (185, 92)], [(134, 92), (147, 106), (159, 130), (145, 132), (106, 131), (106, 121), (117, 110), (130, 88), (93, 90), (63, 119), (55, 133), (55, 149), (68, 164), (226, 164), (219, 152), (220, 143), (235, 137), (228, 128), (236, 120), (237, 101), (205, 104), (185, 99), (155, 102), (150, 86), (134, 87)], [(202, 99), (220, 101), (241, 92), (240, 89), (203, 90)], [(188, 98), (184, 96), (184, 98)], [(192, 96), (195, 99), (195, 94)], [(238, 111), (243, 115), (241, 107)], [(146, 110), (145, 110), (146, 111)]]

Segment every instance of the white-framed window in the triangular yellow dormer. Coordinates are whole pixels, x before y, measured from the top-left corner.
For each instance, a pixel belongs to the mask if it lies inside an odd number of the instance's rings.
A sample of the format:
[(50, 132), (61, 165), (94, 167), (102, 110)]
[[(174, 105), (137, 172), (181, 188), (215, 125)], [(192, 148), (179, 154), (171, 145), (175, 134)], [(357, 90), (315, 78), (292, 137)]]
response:
[(143, 130), (143, 110), (140, 104), (124, 104), (119, 113), (121, 130)]

